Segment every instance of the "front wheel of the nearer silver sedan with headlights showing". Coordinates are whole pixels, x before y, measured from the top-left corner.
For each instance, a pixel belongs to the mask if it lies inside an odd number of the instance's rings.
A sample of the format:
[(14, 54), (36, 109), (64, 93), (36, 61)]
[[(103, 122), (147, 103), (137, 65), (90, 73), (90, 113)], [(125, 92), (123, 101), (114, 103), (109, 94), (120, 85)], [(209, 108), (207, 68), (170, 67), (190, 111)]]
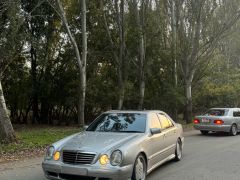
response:
[(132, 180), (146, 180), (147, 163), (142, 154), (139, 154), (135, 160), (133, 167)]

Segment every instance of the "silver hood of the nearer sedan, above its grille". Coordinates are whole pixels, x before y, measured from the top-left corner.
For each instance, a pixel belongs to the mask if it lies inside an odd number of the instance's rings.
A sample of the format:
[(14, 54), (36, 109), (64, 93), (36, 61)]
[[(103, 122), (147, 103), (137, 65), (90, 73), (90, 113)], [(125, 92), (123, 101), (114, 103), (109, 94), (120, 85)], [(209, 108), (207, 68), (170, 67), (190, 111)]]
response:
[(140, 136), (139, 133), (111, 133), (111, 132), (91, 132), (79, 133), (65, 142), (63, 150), (79, 150), (87, 152), (105, 152), (118, 148), (122, 144)]

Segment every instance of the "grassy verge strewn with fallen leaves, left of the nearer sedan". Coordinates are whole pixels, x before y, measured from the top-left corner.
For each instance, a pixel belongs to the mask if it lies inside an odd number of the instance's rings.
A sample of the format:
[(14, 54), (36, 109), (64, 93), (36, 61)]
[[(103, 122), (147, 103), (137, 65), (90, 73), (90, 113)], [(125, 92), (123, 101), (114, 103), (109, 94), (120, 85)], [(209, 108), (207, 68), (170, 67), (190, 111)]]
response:
[(76, 127), (23, 126), (16, 127), (17, 142), (0, 144), (0, 162), (27, 157), (39, 157), (53, 142), (80, 132)]

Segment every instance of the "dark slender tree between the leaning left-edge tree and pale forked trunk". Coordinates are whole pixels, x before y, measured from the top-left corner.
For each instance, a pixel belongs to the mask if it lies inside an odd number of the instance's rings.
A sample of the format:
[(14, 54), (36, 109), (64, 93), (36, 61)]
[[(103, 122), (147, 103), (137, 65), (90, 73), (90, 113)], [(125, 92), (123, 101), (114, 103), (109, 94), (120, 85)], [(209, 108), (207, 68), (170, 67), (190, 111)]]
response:
[[(29, 48), (29, 59), (31, 63), (31, 106), (32, 106), (32, 123), (40, 123), (39, 113), (39, 64), (41, 60), (41, 50), (45, 42), (41, 38), (45, 38), (47, 19), (52, 15), (51, 8), (45, 1), (27, 1), (21, 0), (21, 6), (25, 13), (25, 26), (27, 36), (27, 44)], [(48, 38), (46, 38), (48, 39)], [(28, 57), (27, 57), (28, 58)]]

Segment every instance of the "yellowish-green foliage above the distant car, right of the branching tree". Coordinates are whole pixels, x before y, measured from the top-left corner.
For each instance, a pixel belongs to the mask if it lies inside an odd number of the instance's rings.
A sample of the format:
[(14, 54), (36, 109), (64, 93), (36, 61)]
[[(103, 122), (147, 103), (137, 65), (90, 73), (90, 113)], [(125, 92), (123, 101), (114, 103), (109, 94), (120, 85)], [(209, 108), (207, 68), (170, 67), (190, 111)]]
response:
[(222, 41), (220, 48), (223, 51), (215, 51), (207, 67), (206, 76), (195, 84), (196, 111), (209, 107), (238, 107), (240, 105), (238, 37), (238, 33), (234, 33)]

